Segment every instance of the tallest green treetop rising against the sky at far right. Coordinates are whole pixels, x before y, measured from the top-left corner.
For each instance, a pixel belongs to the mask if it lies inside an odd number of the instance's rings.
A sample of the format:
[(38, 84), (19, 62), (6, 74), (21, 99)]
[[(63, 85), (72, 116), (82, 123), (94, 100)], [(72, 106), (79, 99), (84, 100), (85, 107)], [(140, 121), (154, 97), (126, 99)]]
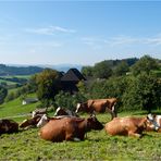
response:
[(138, 75), (141, 72), (149, 74), (151, 70), (157, 70), (159, 64), (154, 59), (149, 55), (144, 55), (132, 66), (132, 72), (134, 75)]

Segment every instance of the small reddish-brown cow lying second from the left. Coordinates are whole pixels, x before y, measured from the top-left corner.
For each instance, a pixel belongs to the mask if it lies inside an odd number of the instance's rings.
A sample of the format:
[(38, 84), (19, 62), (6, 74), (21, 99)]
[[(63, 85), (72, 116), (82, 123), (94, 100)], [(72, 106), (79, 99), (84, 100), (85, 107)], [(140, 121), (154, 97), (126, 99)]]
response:
[(29, 127), (35, 127), (37, 123), (40, 121), (40, 119), (41, 115), (36, 115), (32, 119), (26, 119), (20, 124), (20, 127), (24, 129), (28, 129)]

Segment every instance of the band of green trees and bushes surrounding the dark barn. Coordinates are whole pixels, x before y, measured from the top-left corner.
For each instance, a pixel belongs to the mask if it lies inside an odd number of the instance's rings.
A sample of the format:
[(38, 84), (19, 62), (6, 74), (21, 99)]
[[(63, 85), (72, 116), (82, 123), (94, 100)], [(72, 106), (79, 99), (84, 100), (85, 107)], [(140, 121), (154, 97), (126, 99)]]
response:
[[(131, 63), (129, 63), (131, 62)], [(41, 107), (74, 109), (77, 102), (90, 98), (117, 98), (117, 110), (151, 110), (161, 108), (161, 61), (149, 55), (140, 59), (102, 61), (94, 66), (83, 66), (87, 82), (77, 84), (78, 92), (71, 95), (61, 88), (61, 73), (46, 69), (35, 74), (21, 87), (36, 92)], [(25, 92), (24, 92), (25, 94)]]

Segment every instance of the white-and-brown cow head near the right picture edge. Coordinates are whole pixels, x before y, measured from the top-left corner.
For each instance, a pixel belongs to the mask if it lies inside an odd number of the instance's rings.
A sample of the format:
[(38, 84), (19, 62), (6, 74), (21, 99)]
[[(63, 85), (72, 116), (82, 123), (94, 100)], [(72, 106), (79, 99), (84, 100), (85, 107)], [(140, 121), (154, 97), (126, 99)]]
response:
[(156, 115), (147, 115), (147, 131), (158, 131), (160, 125), (156, 122)]

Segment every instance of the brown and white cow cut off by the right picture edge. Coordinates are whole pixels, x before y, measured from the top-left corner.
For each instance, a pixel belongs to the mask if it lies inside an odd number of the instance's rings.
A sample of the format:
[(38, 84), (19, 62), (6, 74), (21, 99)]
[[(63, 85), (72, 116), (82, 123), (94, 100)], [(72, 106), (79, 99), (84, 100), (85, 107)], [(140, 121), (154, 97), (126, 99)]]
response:
[(148, 114), (146, 131), (161, 133), (161, 115)]

